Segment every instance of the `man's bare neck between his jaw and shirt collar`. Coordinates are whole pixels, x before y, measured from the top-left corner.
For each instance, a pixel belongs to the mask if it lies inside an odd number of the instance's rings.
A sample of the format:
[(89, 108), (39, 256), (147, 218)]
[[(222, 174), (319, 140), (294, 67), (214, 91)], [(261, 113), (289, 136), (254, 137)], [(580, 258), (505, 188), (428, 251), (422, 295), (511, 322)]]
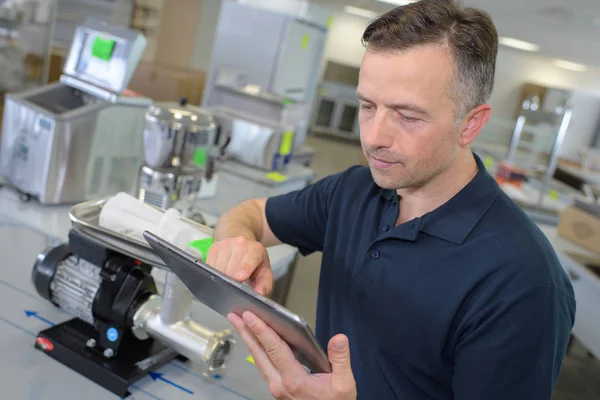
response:
[(473, 153), (461, 151), (445, 171), (424, 186), (397, 190), (400, 214), (396, 225), (421, 217), (445, 204), (471, 182), (477, 171)]

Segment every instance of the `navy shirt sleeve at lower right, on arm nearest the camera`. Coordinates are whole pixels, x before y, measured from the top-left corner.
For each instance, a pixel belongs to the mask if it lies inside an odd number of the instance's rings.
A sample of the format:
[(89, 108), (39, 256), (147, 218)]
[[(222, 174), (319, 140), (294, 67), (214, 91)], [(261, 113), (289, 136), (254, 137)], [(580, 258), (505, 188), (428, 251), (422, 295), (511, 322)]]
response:
[(456, 400), (548, 400), (575, 317), (575, 299), (552, 282), (488, 304), (455, 348)]

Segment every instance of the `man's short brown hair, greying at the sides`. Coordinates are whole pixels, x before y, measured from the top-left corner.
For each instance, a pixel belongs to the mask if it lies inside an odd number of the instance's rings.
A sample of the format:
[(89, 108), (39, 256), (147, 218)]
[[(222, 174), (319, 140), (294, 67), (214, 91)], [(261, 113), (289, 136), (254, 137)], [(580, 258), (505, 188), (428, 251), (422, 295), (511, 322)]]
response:
[(404, 50), (426, 44), (448, 47), (455, 62), (450, 96), (460, 121), (492, 94), (498, 32), (490, 16), (454, 0), (421, 0), (372, 21), (362, 41), (368, 51)]

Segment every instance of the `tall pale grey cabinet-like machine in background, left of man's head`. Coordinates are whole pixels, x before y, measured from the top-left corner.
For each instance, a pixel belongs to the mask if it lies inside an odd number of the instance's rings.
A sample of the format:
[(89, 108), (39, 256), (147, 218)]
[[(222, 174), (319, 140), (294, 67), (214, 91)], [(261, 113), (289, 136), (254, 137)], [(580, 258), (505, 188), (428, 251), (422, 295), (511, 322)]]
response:
[(202, 106), (294, 127), (306, 140), (331, 13), (313, 2), (222, 2)]

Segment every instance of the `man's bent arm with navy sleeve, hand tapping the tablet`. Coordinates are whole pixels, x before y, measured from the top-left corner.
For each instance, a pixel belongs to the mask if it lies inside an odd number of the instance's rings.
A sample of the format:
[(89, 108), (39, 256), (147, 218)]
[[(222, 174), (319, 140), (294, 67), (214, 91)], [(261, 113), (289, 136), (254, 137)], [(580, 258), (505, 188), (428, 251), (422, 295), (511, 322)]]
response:
[(287, 243), (303, 254), (321, 250), (331, 198), (342, 174), (332, 175), (302, 190), (245, 201), (223, 214), (214, 231), (215, 243), (206, 262), (237, 279), (250, 279), (263, 294), (273, 288), (273, 273), (265, 247)]

